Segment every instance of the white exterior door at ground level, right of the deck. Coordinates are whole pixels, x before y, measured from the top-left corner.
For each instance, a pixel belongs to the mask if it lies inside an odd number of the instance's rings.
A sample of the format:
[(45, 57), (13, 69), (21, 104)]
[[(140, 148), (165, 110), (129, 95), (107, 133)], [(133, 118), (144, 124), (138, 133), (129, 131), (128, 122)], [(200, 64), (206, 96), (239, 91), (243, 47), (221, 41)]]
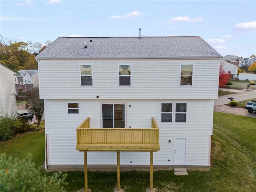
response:
[(186, 159), (186, 138), (174, 139), (174, 165), (185, 164)]

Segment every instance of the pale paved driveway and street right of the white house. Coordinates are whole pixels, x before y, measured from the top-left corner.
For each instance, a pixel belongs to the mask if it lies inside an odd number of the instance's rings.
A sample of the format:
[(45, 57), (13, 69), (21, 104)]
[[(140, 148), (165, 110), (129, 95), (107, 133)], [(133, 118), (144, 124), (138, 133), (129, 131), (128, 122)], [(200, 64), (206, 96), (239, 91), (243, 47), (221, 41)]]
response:
[(220, 88), (219, 90), (236, 92), (236, 94), (220, 96), (218, 99), (214, 100), (214, 111), (256, 118), (256, 112), (248, 113), (248, 111), (245, 108), (226, 105), (230, 102), (230, 100), (228, 99), (229, 97), (233, 97), (235, 101), (243, 101), (243, 100), (249, 101), (249, 100), (252, 100), (253, 98), (256, 98), (256, 89), (232, 90), (232, 89)]

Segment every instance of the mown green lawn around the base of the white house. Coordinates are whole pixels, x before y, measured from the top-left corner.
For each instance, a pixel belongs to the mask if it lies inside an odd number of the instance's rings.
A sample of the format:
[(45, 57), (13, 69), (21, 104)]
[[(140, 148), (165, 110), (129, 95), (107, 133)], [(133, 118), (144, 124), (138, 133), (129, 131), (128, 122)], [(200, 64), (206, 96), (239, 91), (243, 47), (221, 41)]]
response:
[[(255, 124), (255, 118), (214, 112), (212, 168), (208, 171), (189, 170), (187, 176), (175, 176), (173, 171), (155, 171), (154, 188), (158, 192), (256, 191)], [(7, 145), (8, 142), (12, 144)], [(24, 134), (20, 139), (8, 142), (1, 143), (1, 152), (8, 150), (7, 154), (18, 158), (24, 158), (24, 154), (30, 152), (33, 156), (40, 156), (37, 164), (43, 163), (44, 132)], [(20, 147), (23, 142), (32, 143)], [(83, 188), (84, 172), (66, 173), (67, 192)], [(52, 175), (53, 172), (46, 174)], [(120, 180), (125, 192), (144, 192), (150, 186), (150, 172), (121, 171)], [(116, 172), (88, 172), (88, 187), (92, 192), (113, 192), (116, 182)]]

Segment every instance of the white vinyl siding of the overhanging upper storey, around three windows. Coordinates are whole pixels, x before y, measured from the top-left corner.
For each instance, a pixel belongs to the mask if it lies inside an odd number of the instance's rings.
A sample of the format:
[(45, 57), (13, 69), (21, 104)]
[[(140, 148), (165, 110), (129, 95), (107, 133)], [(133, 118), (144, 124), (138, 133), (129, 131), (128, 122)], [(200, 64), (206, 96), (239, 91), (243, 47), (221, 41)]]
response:
[[(93, 86), (81, 86), (80, 64), (93, 65)], [(180, 86), (181, 64), (193, 64), (193, 86)], [(119, 65), (132, 66), (132, 86), (119, 86)], [(39, 60), (38, 68), (45, 99), (218, 98), (218, 59)]]

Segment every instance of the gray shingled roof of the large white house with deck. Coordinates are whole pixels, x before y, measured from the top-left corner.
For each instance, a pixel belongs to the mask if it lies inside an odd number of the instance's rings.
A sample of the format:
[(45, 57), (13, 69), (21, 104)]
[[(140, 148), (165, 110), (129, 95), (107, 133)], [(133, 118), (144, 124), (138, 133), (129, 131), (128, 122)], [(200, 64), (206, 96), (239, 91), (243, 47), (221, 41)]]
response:
[[(92, 40), (92, 42), (90, 42)], [(87, 48), (84, 48), (85, 42)], [(199, 36), (58, 37), (36, 58), (220, 58)]]

